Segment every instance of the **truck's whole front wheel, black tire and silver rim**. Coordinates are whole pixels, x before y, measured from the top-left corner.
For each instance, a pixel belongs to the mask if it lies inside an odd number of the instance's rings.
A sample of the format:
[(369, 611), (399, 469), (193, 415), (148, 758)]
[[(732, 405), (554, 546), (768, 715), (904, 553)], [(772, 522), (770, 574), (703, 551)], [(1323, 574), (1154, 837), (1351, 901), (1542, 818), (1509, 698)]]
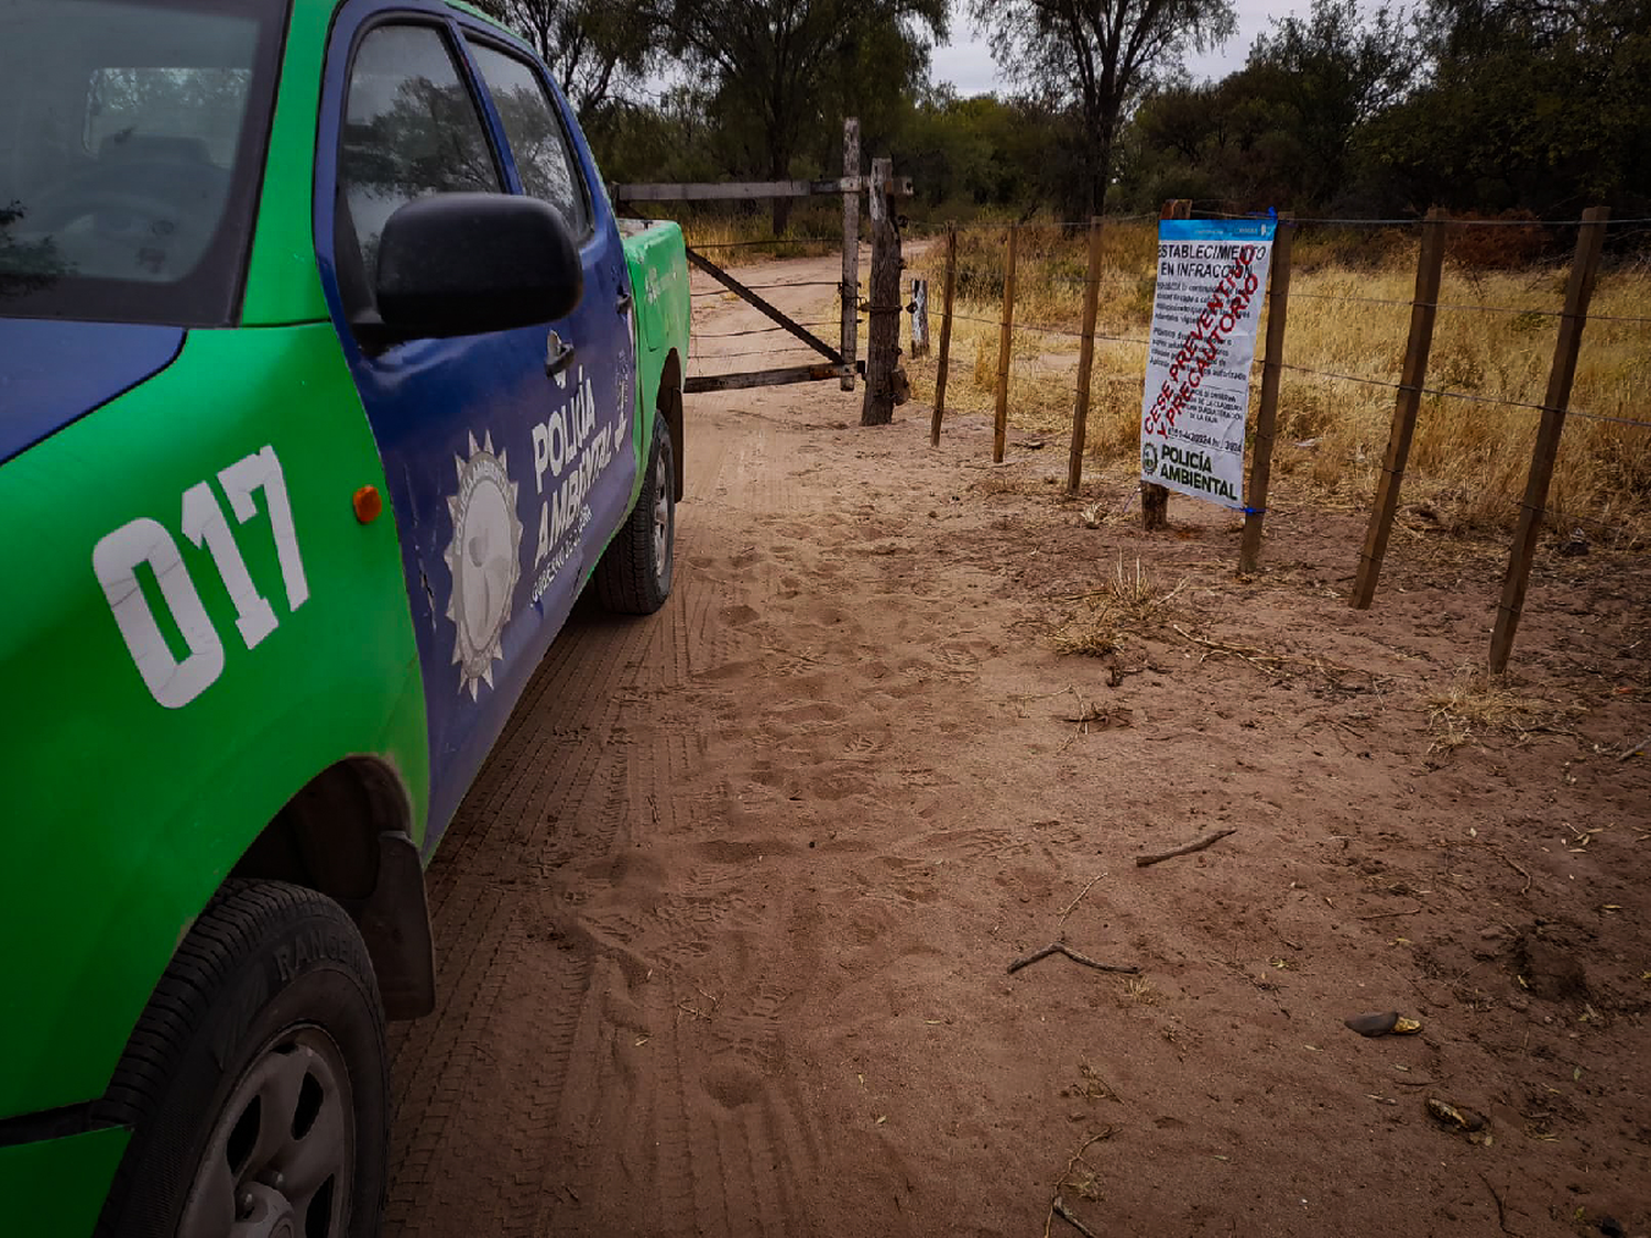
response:
[(302, 886), (229, 881), (173, 954), (102, 1101), (134, 1132), (97, 1233), (376, 1235), (388, 1094), (355, 923)]

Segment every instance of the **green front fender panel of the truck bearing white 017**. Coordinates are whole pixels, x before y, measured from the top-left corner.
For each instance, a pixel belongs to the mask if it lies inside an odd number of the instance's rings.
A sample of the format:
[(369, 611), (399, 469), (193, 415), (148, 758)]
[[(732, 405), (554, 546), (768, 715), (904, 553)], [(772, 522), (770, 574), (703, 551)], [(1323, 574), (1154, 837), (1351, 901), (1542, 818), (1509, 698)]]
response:
[[(297, 607), (271, 495), (254, 492), (256, 513), (236, 522), (220, 479), (264, 449), (292, 510)], [(251, 649), (210, 545), (183, 530), (183, 495), (201, 484), (276, 617)], [(322, 769), (376, 756), (423, 825), (424, 710), (396, 530), (388, 513), (357, 520), (363, 485), (383, 492), (383, 470), (330, 324), (192, 332), (168, 368), (0, 470), (0, 528), (13, 532), (0, 665), (17, 705), (0, 711), (0, 941), (31, 943), (8, 951), (0, 987), (0, 1118), (102, 1093), (195, 913)], [(187, 708), (157, 702), (99, 586), (94, 550), (130, 527), (165, 538), (162, 565), (175, 548), (180, 588), (221, 649)], [(182, 662), (178, 607), (154, 568), (137, 578)]]

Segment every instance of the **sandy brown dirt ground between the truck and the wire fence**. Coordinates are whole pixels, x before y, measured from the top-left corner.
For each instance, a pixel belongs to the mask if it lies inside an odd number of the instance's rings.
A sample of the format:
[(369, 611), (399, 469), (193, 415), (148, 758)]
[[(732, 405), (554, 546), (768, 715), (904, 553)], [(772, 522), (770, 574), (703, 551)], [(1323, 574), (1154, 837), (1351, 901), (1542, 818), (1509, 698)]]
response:
[[(771, 363), (697, 305), (708, 368)], [(688, 399), (669, 606), (575, 619), (429, 870), (386, 1231), (1651, 1228), (1646, 558), (1544, 553), (1540, 708), (1458, 743), (1494, 546), (1413, 528), (1359, 614), (1357, 513), (1286, 485), (1240, 581), (1218, 508), (1147, 538), (1060, 444), (859, 404)], [(1119, 571), (1174, 596), (1058, 655)], [(1055, 939), (1141, 976), (1005, 972)], [(1387, 1009), (1420, 1035), (1342, 1027)]]

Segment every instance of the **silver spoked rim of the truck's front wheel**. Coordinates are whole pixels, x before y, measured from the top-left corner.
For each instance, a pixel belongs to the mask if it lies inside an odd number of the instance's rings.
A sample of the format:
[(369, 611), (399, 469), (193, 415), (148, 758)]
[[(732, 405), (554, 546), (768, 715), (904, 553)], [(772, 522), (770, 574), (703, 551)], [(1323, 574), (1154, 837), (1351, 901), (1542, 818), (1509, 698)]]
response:
[(253, 1058), (213, 1124), (178, 1238), (340, 1238), (355, 1177), (355, 1098), (319, 1027)]

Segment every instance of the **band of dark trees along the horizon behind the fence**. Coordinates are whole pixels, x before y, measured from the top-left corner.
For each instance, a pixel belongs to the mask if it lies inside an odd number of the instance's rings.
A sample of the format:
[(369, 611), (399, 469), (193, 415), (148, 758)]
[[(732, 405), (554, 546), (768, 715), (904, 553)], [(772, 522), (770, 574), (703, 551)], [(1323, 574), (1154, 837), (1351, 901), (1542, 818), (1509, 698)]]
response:
[(1194, 83), (1182, 56), (1232, 0), (969, 0), (1015, 86), (971, 99), (928, 81), (946, 0), (484, 7), (543, 51), (613, 180), (834, 175), (859, 116), (865, 158), (936, 213), (1651, 213), (1651, 0), (1418, 2), (1313, 0)]

